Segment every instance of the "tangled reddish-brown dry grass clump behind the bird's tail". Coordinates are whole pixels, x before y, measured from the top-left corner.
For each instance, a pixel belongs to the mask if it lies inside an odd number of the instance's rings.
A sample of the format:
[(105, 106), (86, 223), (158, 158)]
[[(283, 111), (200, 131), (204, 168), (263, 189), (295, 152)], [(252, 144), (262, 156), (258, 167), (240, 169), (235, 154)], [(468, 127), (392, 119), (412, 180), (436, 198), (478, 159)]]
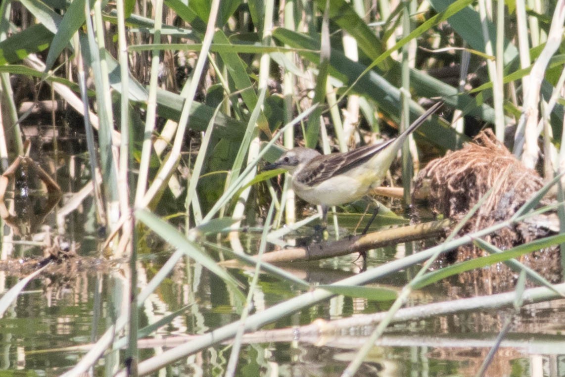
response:
[[(413, 194), (416, 202), (427, 200), (435, 215), (449, 217), (455, 223), (460, 222), (481, 198), (488, 195), (462, 228), (461, 235), (510, 219), (544, 184), (537, 172), (516, 159), (490, 129), (481, 132), (474, 141), (463, 149), (430, 162), (416, 178)], [(549, 235), (554, 229), (545, 226), (547, 223), (533, 220), (515, 224), (490, 234), (485, 240), (499, 249), (510, 249)], [(442, 262), (464, 261), (485, 254), (482, 249), (467, 246), (446, 255)], [(540, 250), (523, 258), (525, 265), (541, 272), (550, 281), (560, 278), (558, 261), (557, 249)], [(497, 274), (479, 276), (483, 275), (484, 270), (472, 272), (474, 278), (489, 281), (490, 292), (499, 291), (497, 288), (505, 289), (514, 283), (516, 274), (506, 266), (495, 265), (490, 269), (496, 270)], [(460, 277), (467, 278), (468, 275)]]

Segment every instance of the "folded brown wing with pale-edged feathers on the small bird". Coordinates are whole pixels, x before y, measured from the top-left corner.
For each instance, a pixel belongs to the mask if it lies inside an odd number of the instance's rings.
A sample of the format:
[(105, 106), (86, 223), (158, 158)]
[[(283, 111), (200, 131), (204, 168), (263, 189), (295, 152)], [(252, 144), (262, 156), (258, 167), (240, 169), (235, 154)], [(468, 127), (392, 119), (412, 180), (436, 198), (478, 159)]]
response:
[(391, 139), (380, 144), (362, 146), (346, 153), (318, 156), (302, 169), (298, 177), (293, 179), (307, 186), (315, 186), (333, 175), (342, 174), (350, 168), (357, 166), (357, 164), (366, 162), (393, 141), (394, 139)]

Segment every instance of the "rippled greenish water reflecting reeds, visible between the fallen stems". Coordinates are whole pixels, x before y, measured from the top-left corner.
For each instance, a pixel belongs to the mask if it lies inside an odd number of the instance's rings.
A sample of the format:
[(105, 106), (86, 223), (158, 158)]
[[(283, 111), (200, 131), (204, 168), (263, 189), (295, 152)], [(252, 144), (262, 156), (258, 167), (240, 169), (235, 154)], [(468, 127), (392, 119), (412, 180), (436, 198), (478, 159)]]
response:
[[(376, 250), (369, 261), (380, 263), (394, 250)], [(162, 254), (162, 255), (161, 255)], [(140, 280), (159, 265), (160, 258), (140, 263)], [(324, 276), (340, 279), (351, 272), (353, 258), (333, 261), (336, 269), (308, 266), (289, 267), (296, 274), (314, 283)], [(71, 263), (71, 262), (63, 262)], [(325, 262), (328, 263), (328, 262)], [(242, 283), (251, 279), (247, 272), (230, 271)], [(18, 279), (2, 272), (3, 292)], [(382, 283), (401, 287), (406, 273), (399, 272)], [(49, 273), (32, 281), (17, 302), (0, 320), (1, 367), (18, 371), (18, 375), (60, 375), (74, 366), (90, 341), (101, 335), (111, 323), (111, 278), (107, 271), (76, 270), (72, 276)], [(434, 287), (412, 295), (409, 305), (445, 299), (445, 289)], [(255, 310), (260, 311), (297, 294), (291, 284), (267, 275), (260, 278), (255, 297)], [(475, 375), (493, 345), (503, 320), (514, 324), (506, 336), (509, 346), (498, 350), (487, 375), (562, 376), (565, 375), (565, 336), (560, 335), (564, 301), (523, 309), (459, 313), (418, 322), (394, 324), (385, 333), (363, 364), (359, 375), (446, 376)], [(268, 326), (287, 328), (311, 323), (318, 318), (338, 319), (388, 309), (390, 303), (337, 296), (302, 310)], [(174, 311), (180, 313), (150, 337), (199, 334), (237, 320), (233, 295), (221, 280), (190, 261), (178, 263), (170, 279), (152, 294), (140, 310), (144, 327)], [(245, 344), (240, 353), (237, 374), (249, 375), (340, 375), (354, 351), (362, 346), (371, 329), (351, 328), (341, 337), (308, 341), (284, 340)], [(147, 339), (147, 337), (145, 337)], [(141, 347), (143, 347), (141, 343)], [(141, 359), (162, 352), (162, 346), (140, 350)], [(183, 359), (162, 375), (223, 375), (231, 352), (229, 344), (209, 348)], [(106, 358), (112, 358), (112, 353)], [(94, 375), (108, 375), (106, 358), (99, 360)], [(113, 362), (113, 361), (111, 361)], [(539, 374), (541, 372), (541, 374)]]

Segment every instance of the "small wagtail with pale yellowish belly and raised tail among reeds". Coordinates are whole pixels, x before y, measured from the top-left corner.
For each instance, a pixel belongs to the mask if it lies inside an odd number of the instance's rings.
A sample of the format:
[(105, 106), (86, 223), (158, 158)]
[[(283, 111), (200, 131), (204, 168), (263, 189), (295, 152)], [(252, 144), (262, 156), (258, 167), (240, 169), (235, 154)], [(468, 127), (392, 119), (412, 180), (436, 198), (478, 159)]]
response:
[(294, 192), (308, 203), (337, 206), (353, 202), (379, 187), (406, 137), (442, 105), (434, 104), (398, 137), (380, 144), (326, 155), (293, 148), (265, 168), (283, 168), (292, 174)]

